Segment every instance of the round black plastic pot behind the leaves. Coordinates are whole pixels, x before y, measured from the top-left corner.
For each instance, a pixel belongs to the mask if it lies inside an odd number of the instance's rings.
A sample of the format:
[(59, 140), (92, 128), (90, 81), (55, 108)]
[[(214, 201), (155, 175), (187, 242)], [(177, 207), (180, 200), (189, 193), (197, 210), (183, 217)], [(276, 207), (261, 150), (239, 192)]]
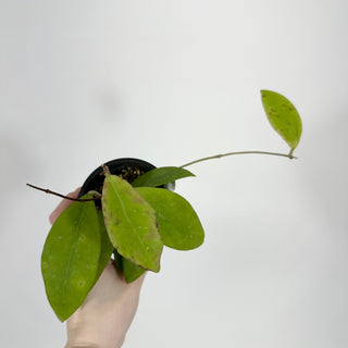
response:
[[(122, 175), (128, 183), (132, 183), (141, 174), (156, 169), (156, 166), (149, 162), (132, 158), (112, 160), (104, 164), (109, 167), (111, 174)], [(104, 175), (102, 175), (102, 167), (99, 166), (87, 177), (78, 197), (86, 195), (90, 190), (96, 190), (101, 194), (103, 182)]]

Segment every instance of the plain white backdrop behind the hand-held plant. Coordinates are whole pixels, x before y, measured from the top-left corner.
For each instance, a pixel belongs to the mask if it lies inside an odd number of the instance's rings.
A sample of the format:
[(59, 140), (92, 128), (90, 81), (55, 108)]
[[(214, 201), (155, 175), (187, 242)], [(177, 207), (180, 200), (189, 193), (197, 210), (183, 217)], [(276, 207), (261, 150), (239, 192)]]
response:
[(124, 347), (347, 347), (347, 16), (344, 0), (1, 0), (1, 346), (65, 344), (39, 264), (59, 199), (25, 183), (288, 151), (261, 107), (273, 89), (302, 116), (299, 159), (190, 167), (177, 192), (206, 243), (165, 250)]

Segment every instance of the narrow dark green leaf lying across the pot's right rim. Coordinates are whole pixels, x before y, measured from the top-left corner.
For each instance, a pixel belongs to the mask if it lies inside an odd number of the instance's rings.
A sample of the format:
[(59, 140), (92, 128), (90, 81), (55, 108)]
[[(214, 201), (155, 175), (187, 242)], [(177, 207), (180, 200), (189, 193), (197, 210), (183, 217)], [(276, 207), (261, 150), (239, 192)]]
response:
[(195, 174), (178, 166), (162, 166), (142, 174), (132, 183), (132, 186), (157, 187), (187, 176), (195, 176)]

